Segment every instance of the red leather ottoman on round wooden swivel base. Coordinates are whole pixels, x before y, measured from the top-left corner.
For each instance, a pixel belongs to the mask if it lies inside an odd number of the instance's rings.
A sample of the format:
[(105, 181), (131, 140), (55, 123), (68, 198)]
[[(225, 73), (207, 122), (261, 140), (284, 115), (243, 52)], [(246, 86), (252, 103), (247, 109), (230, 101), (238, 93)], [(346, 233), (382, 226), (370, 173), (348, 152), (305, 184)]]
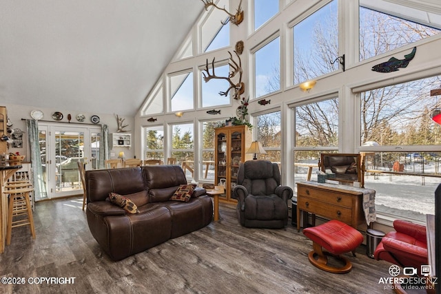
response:
[[(330, 220), (325, 224), (303, 229), (303, 233), (313, 242), (314, 250), (308, 254), (311, 264), (330, 273), (351, 271), (351, 262), (341, 257), (340, 254), (352, 251), (355, 256), (356, 248), (363, 242), (363, 235), (359, 231), (339, 220)], [(329, 252), (323, 252), (322, 247)], [(327, 264), (329, 253), (344, 262), (345, 265), (342, 267), (329, 266)]]

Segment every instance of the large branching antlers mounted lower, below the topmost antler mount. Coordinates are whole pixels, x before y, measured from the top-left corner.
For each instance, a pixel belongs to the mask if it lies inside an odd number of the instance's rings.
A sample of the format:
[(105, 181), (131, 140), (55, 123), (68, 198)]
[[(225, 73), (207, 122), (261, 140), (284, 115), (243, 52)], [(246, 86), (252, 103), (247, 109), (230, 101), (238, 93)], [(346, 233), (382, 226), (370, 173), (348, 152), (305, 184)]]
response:
[[(220, 78), (220, 79), (223, 79), (223, 80), (227, 81), (229, 83), (228, 89), (225, 90), (225, 92), (222, 92), (222, 91), (219, 92), (219, 95), (227, 96), (228, 93), (229, 93), (229, 90), (234, 89), (233, 98), (238, 100), (238, 99), (240, 99), (240, 95), (245, 92), (245, 83), (243, 83), (243, 81), (242, 81), (242, 61), (240, 61), (240, 56), (237, 54), (237, 52), (234, 51), (234, 53), (238, 57), (239, 61), (238, 61), (238, 63), (236, 61), (234, 61), (232, 53), (228, 51), (229, 60), (230, 60), (228, 65), (232, 68), (232, 72), (229, 72), (228, 76), (216, 76), (216, 74), (214, 73), (214, 58), (213, 58), (213, 61), (212, 61), (213, 74), (209, 73), (208, 59), (207, 59), (206, 65), (205, 65), (205, 70), (203, 70), (202, 74), (204, 76), (205, 83), (207, 83), (212, 78)], [(205, 72), (207, 72), (207, 74), (205, 74)], [(236, 76), (236, 74), (239, 74), (239, 81), (238, 81), (238, 83), (234, 83), (232, 81), (232, 78), (234, 78), (234, 76)]]

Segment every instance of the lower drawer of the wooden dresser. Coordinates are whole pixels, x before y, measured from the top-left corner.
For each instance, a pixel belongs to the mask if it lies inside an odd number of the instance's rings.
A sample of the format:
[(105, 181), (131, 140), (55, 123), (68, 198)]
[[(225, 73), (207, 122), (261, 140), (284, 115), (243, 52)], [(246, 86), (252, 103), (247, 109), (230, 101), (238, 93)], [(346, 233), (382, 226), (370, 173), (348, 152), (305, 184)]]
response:
[(315, 213), (318, 216), (330, 218), (331, 220), (340, 220), (347, 224), (352, 221), (352, 209), (345, 207), (338, 207), (329, 203), (321, 202), (313, 198), (298, 197), (297, 207), (300, 210)]

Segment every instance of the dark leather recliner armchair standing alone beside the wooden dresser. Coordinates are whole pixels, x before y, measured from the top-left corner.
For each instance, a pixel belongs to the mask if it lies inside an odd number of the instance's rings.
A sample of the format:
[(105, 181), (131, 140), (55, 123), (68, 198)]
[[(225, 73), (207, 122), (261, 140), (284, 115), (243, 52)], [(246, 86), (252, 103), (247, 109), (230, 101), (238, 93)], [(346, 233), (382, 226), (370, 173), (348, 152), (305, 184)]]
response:
[(293, 191), (280, 185), (280, 171), (268, 160), (240, 163), (233, 198), (238, 200), (240, 224), (249, 228), (279, 229), (287, 225)]

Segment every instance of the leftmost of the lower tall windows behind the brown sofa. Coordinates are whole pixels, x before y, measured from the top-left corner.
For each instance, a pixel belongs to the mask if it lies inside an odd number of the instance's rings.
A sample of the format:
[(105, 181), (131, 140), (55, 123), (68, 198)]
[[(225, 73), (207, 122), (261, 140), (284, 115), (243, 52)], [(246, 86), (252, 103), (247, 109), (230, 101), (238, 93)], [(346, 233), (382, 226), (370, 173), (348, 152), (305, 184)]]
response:
[(162, 125), (143, 127), (145, 138), (144, 159), (161, 159), (164, 161), (164, 128)]

